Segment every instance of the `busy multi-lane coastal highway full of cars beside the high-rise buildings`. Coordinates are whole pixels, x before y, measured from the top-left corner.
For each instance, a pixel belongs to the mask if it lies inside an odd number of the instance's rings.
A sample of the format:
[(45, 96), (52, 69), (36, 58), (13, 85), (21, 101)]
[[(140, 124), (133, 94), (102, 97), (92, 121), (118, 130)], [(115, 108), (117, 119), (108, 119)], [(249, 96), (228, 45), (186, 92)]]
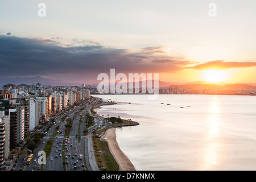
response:
[[(84, 115), (88, 112), (90, 115), (90, 109), (96, 105), (97, 102), (94, 98), (88, 101), (82, 101), (79, 106), (73, 107), (64, 113), (57, 115), (55, 123), (52, 124), (51, 128), (47, 131), (47, 135), (43, 137), (38, 147), (34, 150), (34, 158), (31, 161), (30, 165), (25, 165), (26, 171), (32, 170), (44, 170), (44, 171), (63, 171), (63, 170), (99, 170), (94, 158), (94, 151), (92, 147), (92, 133), (89, 133), (87, 136), (84, 136), (83, 131), (85, 130), (85, 118)], [(62, 122), (61, 118), (67, 116)], [(65, 124), (67, 124), (67, 119), (71, 118), (73, 120), (73, 125), (69, 133), (69, 137), (64, 137), (65, 135)], [(79, 130), (79, 122), (80, 130)], [(94, 126), (90, 129), (96, 129), (104, 126), (104, 119), (101, 117), (94, 117)], [(49, 123), (43, 127), (40, 132), (44, 133)], [(51, 137), (56, 127), (59, 126), (59, 134), (56, 134), (56, 137)], [(77, 135), (77, 136), (76, 136)], [(52, 140), (51, 153), (49, 154), (46, 164), (38, 164), (39, 151), (43, 151), (44, 147), (48, 140)], [(64, 161), (63, 161), (64, 159)], [(34, 161), (35, 160), (35, 161)], [(19, 160), (18, 165), (21, 166), (22, 159)], [(19, 168), (19, 167), (18, 167)]]

